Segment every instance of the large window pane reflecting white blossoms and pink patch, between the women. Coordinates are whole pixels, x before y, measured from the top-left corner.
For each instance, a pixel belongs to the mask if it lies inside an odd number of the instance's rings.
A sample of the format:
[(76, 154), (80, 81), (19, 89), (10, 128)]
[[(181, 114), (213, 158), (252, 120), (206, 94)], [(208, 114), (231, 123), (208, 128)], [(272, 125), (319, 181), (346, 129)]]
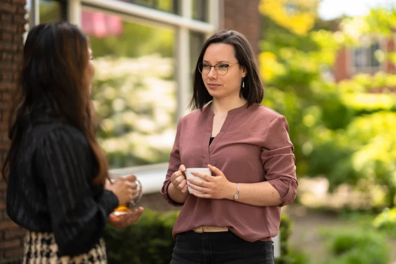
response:
[(110, 166), (167, 162), (176, 134), (175, 32), (83, 10), (98, 131)]

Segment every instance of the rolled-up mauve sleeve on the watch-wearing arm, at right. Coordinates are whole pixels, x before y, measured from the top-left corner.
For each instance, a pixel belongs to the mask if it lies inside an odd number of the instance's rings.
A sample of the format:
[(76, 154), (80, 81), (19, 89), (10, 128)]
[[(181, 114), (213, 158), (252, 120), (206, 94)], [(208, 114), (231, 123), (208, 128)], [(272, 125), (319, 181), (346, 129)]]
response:
[(265, 179), (279, 192), (282, 199), (280, 207), (293, 204), (298, 186), (296, 159), (284, 116), (279, 115), (269, 125), (261, 151)]

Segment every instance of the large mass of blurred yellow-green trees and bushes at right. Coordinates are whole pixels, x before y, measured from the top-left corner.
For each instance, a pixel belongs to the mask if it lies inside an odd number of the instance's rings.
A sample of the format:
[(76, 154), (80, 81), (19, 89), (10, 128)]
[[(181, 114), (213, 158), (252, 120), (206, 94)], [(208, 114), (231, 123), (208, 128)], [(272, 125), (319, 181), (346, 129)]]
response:
[(263, 105), (289, 122), (297, 174), (325, 175), (331, 190), (344, 183), (360, 189), (370, 184), (387, 186), (385, 205), (392, 205), (396, 195), (396, 75), (357, 74), (339, 83), (329, 76), (339, 50), (358, 44), (357, 36), (350, 33), (387, 36), (395, 28), (396, 9), (376, 8), (366, 17), (345, 18), (342, 31), (329, 31), (336, 30), (335, 24), (319, 21), (303, 35), (281, 26), (274, 16), (262, 14)]

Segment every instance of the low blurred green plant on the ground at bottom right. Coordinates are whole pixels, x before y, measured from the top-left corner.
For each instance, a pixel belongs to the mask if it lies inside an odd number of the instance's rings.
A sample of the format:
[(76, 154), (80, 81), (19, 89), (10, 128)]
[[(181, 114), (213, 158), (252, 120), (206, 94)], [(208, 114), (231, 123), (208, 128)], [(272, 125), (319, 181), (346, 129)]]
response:
[(369, 229), (328, 233), (332, 258), (325, 264), (388, 264), (390, 252), (385, 237)]

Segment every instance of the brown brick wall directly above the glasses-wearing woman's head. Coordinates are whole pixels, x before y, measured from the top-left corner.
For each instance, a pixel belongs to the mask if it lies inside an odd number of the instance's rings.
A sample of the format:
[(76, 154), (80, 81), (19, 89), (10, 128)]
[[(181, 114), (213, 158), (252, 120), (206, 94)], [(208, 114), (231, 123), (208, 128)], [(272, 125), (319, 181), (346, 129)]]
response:
[(236, 30), (245, 35), (256, 57), (259, 54), (261, 39), (261, 16), (258, 11), (260, 0), (221, 0), (223, 18), (221, 29)]

